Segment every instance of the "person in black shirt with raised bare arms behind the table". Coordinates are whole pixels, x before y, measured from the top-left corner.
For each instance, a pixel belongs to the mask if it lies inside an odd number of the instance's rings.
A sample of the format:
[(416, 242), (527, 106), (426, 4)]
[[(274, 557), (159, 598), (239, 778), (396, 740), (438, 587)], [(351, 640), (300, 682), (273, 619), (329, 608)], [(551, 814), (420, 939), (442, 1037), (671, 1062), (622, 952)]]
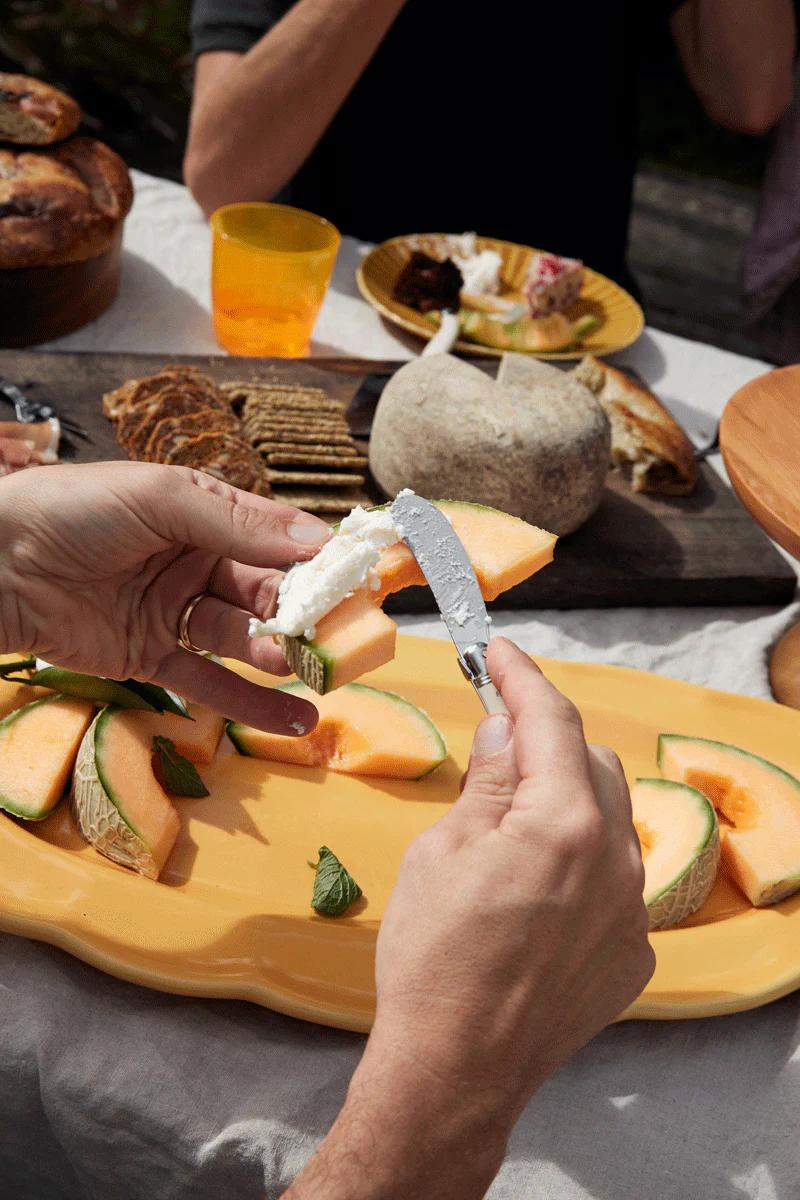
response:
[[(196, 0), (186, 181), (206, 212), (279, 198), (368, 241), (476, 229), (630, 282), (637, 8)], [(792, 0), (655, 8), (717, 120), (759, 132), (788, 106)]]

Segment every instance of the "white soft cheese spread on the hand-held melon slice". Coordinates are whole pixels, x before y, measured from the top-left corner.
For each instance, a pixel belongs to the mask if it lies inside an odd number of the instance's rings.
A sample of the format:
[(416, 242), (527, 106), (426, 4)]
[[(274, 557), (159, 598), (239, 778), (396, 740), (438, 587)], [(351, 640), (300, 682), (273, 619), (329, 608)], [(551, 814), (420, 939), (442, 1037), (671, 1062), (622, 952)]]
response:
[(249, 636), (313, 637), (317, 622), (337, 604), (365, 583), (375, 586), (373, 568), (401, 538), (390, 509), (353, 509), (318, 554), (287, 571), (278, 588), (277, 613), (269, 620), (253, 617)]

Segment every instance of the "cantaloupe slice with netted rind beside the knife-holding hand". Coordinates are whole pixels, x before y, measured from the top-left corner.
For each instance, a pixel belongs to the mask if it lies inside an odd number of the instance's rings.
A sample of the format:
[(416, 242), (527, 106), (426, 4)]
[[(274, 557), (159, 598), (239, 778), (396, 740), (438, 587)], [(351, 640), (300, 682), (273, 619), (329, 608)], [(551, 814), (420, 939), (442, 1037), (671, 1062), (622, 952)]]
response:
[(697, 912), (720, 866), (720, 833), (709, 799), (667, 779), (637, 779), (633, 824), (644, 862), (644, 902), (650, 929), (672, 929)]

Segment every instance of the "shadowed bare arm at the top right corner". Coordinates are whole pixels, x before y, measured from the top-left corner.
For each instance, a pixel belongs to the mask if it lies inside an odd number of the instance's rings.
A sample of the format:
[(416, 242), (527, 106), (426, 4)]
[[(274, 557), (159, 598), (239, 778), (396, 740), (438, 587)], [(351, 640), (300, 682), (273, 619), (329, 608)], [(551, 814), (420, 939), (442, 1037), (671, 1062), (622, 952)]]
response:
[(742, 133), (765, 133), (792, 98), (792, 0), (691, 0), (673, 34), (709, 116)]

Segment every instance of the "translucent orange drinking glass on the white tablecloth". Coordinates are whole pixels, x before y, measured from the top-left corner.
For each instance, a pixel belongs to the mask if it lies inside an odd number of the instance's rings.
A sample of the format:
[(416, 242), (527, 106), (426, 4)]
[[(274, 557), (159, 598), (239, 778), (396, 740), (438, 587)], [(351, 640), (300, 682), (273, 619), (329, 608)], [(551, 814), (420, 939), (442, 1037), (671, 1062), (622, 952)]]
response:
[(211, 215), (211, 307), (231, 354), (299, 358), (342, 241), (324, 217), (285, 204), (225, 204)]

